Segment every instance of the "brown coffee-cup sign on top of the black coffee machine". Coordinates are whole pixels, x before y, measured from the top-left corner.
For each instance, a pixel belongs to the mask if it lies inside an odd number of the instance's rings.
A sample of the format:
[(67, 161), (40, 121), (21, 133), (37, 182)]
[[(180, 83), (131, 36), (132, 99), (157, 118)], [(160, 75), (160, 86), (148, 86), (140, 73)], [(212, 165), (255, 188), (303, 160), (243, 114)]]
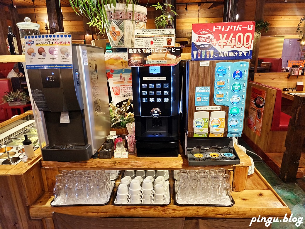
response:
[(181, 60), (181, 47), (128, 49), (128, 67), (174, 66)]

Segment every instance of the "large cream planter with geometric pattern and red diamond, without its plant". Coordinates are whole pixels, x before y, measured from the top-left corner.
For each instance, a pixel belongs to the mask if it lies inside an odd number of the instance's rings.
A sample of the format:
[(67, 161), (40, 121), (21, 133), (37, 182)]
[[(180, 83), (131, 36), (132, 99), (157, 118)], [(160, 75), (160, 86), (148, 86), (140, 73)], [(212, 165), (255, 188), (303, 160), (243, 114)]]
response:
[[(135, 29), (145, 29), (147, 9), (141, 5), (105, 5), (108, 17), (107, 35), (112, 48), (134, 48)], [(134, 10), (132, 10), (134, 8)]]

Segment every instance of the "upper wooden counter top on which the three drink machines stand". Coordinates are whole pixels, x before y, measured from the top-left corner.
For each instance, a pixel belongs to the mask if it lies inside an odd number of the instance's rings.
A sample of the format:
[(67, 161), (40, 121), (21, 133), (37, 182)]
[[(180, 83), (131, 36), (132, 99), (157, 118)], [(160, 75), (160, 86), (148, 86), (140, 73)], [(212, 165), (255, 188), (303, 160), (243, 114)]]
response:
[[(185, 155), (181, 155), (182, 148), (180, 148), (180, 154), (178, 157), (145, 157), (139, 158), (135, 155), (129, 155), (129, 158), (111, 158), (111, 159), (90, 159), (89, 161), (81, 161), (81, 162), (50, 162), (50, 161), (41, 161), (42, 167), (58, 167), (64, 169), (106, 169), (106, 170), (136, 170), (136, 169), (181, 169), (181, 168), (189, 168), (189, 169), (199, 169), (201, 167), (189, 166), (188, 160)], [(232, 167), (248, 167), (251, 165), (250, 158), (247, 154), (245, 154), (239, 147), (235, 146), (235, 150), (240, 158), (239, 165), (227, 165), (221, 166), (226, 169)], [(209, 166), (205, 166), (209, 167)], [(217, 167), (217, 166), (210, 166)]]

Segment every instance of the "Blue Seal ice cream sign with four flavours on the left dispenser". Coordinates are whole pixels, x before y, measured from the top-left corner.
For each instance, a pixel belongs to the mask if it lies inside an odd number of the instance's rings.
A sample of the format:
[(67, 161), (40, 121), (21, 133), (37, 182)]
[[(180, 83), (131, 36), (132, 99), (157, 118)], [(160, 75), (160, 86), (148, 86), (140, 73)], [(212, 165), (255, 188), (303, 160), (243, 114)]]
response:
[(71, 35), (25, 36), (27, 69), (72, 68)]

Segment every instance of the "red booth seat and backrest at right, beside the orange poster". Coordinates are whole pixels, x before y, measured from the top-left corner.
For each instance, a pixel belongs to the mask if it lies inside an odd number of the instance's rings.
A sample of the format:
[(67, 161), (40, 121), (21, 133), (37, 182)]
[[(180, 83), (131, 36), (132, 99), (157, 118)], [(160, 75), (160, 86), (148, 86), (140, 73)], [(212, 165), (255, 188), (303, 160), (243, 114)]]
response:
[[(257, 82), (255, 82), (257, 83)], [(282, 90), (279, 88), (271, 87), (269, 85), (257, 83), (263, 85), (265, 87), (275, 89), (276, 96), (275, 96), (275, 103), (274, 103), (274, 110), (273, 110), (273, 117), (272, 117), (272, 124), (271, 124), (271, 131), (287, 131), (289, 119), (291, 118), (290, 115), (285, 114), (281, 111), (282, 107)]]

